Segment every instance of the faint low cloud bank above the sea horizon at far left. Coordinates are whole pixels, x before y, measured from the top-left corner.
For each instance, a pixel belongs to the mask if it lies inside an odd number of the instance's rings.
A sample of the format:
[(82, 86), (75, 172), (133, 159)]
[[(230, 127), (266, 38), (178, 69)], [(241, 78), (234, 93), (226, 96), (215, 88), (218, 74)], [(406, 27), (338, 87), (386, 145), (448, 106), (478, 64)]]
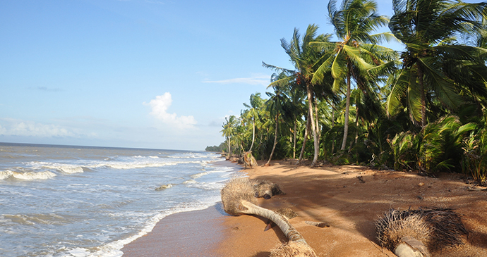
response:
[(35, 123), (30, 120), (3, 119), (0, 135), (28, 137), (76, 137), (76, 133), (59, 125)]

